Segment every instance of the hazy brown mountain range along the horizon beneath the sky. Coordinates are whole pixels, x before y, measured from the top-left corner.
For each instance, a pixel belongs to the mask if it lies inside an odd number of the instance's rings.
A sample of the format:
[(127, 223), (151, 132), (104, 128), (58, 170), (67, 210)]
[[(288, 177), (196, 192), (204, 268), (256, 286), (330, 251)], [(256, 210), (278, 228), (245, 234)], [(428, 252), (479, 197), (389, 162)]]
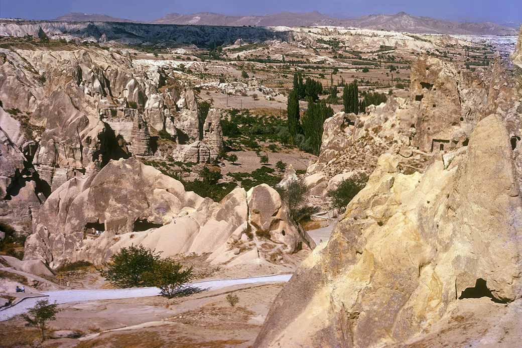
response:
[[(70, 13), (56, 18), (60, 21), (113, 21), (136, 22), (101, 14)], [(353, 19), (334, 18), (317, 11), (305, 13), (281, 12), (265, 16), (227, 16), (201, 12), (190, 15), (167, 14), (153, 20), (153, 24), (207, 25), (207, 26), (345, 26), (364, 29), (407, 31), (413, 33), (453, 33), (482, 35), (515, 35), (517, 25), (500, 25), (493, 22), (456, 22), (430, 17), (412, 16), (405, 12), (393, 15), (368, 15)]]

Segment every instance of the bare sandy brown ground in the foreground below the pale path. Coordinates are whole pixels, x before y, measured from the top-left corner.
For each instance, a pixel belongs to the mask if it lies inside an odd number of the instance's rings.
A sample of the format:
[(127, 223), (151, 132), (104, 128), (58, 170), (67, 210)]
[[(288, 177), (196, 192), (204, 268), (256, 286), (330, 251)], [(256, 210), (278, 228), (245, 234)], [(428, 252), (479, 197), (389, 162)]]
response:
[[(252, 346), (282, 284), (240, 285), (187, 297), (97, 300), (60, 305), (51, 331), (74, 330), (79, 339), (56, 339), (46, 347), (247, 347)], [(239, 297), (234, 307), (228, 293)], [(120, 329), (104, 332), (106, 330)], [(2, 346), (37, 340), (20, 317), (0, 325)]]

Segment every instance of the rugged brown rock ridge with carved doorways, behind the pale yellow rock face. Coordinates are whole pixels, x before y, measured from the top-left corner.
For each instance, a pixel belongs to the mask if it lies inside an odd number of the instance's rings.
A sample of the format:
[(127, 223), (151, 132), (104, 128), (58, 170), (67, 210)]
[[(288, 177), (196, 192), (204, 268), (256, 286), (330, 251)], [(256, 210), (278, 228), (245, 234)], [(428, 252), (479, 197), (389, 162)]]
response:
[[(366, 113), (340, 112), (325, 121), (321, 153), (306, 176), (324, 175), (329, 182), (347, 171), (369, 175), (384, 153), (399, 155), (404, 173), (424, 171), (434, 158), (467, 146), (477, 123), (494, 112), (518, 139), (522, 99), (517, 73), (505, 65), (497, 60), (472, 73), (422, 57), (411, 67), (409, 98), (392, 97)], [(325, 187), (314, 190), (324, 194)]]

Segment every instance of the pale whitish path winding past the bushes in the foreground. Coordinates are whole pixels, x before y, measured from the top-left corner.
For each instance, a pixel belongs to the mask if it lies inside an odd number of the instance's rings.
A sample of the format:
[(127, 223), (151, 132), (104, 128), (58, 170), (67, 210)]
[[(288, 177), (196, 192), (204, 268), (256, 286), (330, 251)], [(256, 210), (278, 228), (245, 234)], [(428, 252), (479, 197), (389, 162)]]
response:
[[(232, 285), (267, 283), (267, 282), (288, 282), (292, 274), (276, 274), (260, 277), (240, 278), (240, 279), (223, 279), (204, 282), (190, 283), (194, 287), (198, 287), (204, 291), (216, 290)], [(104, 299), (119, 299), (132, 297), (150, 297), (158, 296), (160, 289), (157, 287), (139, 287), (129, 289), (89, 289), (89, 290), (57, 290), (46, 291), (41, 293), (42, 297), (26, 298), (16, 305), (0, 310), (0, 321), (8, 320), (14, 316), (23, 314), (33, 307), (38, 300), (49, 299), (49, 303), (56, 302), (64, 304), (78, 301), (93, 301)]]

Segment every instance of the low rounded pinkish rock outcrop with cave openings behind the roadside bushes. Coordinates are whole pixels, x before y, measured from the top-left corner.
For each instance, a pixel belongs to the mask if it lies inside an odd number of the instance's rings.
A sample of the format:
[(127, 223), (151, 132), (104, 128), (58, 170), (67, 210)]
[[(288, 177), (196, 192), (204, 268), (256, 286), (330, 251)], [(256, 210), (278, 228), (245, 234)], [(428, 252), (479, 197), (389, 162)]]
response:
[(284, 256), (313, 247), (268, 186), (237, 188), (213, 202), (134, 157), (61, 185), (43, 204), (33, 232), (25, 259), (53, 268), (78, 260), (99, 264), (132, 244), (163, 257), (211, 253), (211, 262), (231, 264), (285, 262)]

